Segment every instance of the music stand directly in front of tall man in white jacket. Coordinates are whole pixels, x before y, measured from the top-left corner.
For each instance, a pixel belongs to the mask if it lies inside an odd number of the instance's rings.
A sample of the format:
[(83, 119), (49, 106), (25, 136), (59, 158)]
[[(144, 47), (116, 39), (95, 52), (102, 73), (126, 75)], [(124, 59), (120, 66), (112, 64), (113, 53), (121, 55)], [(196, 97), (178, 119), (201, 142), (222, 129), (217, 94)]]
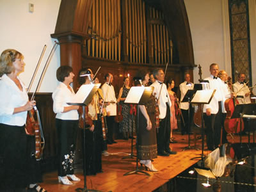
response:
[[(204, 104), (209, 104), (212, 100), (212, 97), (216, 90), (197, 90), (191, 99), (192, 104), (201, 104), (202, 109), (204, 109)], [(202, 163), (204, 163), (204, 118), (203, 118), (203, 111), (201, 114), (202, 118), (202, 154), (199, 157), (193, 157), (190, 160), (200, 158)]]

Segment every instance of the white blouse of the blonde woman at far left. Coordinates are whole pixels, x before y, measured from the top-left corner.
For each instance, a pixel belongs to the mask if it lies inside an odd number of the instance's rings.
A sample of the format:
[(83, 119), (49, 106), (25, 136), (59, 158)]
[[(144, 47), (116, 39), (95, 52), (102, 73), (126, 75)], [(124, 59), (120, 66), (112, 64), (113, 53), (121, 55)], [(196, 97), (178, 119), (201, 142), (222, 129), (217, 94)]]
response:
[[(17, 77), (17, 79), (20, 78)], [(24, 106), (28, 102), (28, 93), (22, 81), (22, 91), (4, 74), (0, 80), (0, 123), (22, 126), (26, 124), (28, 111), (13, 114), (14, 108)]]

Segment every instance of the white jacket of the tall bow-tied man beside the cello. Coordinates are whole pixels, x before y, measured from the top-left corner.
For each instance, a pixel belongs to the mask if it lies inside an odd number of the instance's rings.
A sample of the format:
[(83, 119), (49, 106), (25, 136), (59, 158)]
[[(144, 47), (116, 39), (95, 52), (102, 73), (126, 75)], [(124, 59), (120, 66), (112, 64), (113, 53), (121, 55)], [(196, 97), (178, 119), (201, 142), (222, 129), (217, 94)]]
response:
[(224, 84), (219, 77), (217, 79), (214, 79), (212, 75), (210, 77), (205, 78), (204, 80), (209, 81), (210, 90), (216, 90), (214, 96), (212, 97), (211, 102), (209, 104), (204, 104), (204, 113), (206, 112), (206, 109), (211, 108), (211, 114), (216, 114), (219, 111), (218, 102), (223, 102), (223, 98), (225, 97), (223, 95)]

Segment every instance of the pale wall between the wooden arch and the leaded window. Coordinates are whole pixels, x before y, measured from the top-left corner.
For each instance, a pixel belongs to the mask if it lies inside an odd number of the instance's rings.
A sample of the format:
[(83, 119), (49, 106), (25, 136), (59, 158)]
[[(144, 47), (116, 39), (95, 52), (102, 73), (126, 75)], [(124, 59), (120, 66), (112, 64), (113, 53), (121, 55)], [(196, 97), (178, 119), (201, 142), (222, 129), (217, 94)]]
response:
[[(202, 78), (209, 76), (209, 65), (224, 67), (221, 0), (184, 0), (193, 42), (195, 64), (202, 67)], [(198, 83), (198, 68), (194, 81)]]

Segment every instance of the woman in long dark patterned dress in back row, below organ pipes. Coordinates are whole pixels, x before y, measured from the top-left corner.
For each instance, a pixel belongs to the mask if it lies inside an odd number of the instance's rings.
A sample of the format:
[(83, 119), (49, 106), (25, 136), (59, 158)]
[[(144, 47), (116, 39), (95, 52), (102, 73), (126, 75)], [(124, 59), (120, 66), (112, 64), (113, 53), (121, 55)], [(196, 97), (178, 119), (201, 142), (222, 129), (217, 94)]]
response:
[(128, 140), (128, 138), (132, 138), (132, 129), (134, 120), (132, 119), (132, 115), (130, 113), (131, 106), (129, 104), (125, 104), (124, 100), (126, 99), (129, 90), (130, 90), (130, 79), (129, 77), (124, 77), (124, 86), (120, 88), (117, 102), (122, 106), (122, 116), (123, 120), (119, 124), (119, 130), (123, 133), (124, 140)]

